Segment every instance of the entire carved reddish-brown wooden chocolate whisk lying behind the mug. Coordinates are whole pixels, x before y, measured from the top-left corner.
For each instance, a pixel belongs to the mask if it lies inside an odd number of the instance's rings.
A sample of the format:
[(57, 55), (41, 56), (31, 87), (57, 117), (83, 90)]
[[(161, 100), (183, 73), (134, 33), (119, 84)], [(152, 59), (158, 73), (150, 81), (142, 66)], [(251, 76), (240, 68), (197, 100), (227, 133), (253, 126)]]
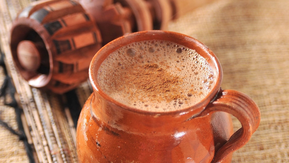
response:
[(171, 19), (212, 0), (45, 0), (15, 19), (10, 47), (29, 85), (62, 94), (88, 78), (92, 57), (131, 32), (166, 29)]

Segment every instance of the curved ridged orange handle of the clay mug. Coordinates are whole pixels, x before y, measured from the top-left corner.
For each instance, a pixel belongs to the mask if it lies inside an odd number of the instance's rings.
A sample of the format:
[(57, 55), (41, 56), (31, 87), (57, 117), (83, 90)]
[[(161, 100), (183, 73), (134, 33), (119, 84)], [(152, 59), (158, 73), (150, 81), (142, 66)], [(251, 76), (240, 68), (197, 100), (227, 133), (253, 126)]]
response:
[(261, 117), (256, 103), (249, 96), (234, 90), (220, 89), (216, 98), (199, 116), (206, 116), (216, 111), (224, 111), (235, 116), (241, 122), (242, 127), (221, 146), (211, 163), (223, 162), (227, 155), (244, 146), (257, 130)]

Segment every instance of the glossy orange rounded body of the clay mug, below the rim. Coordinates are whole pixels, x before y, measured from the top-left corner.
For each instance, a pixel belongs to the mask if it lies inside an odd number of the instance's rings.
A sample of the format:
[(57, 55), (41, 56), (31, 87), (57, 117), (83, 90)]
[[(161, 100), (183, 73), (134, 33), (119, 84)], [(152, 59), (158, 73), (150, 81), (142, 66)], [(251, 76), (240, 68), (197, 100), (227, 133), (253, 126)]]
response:
[[(183, 122), (176, 118), (177, 123), (172, 123), (174, 117), (167, 117), (162, 119), (166, 124), (160, 124), (154, 118), (141, 119), (135, 113), (121, 113), (131, 121), (142, 123), (139, 128), (137, 124), (131, 125), (135, 128), (130, 128), (116, 124), (113, 118), (106, 119), (95, 113), (95, 108), (102, 110), (99, 100), (103, 99), (92, 94), (79, 117), (79, 162), (209, 163), (233, 133), (231, 116), (225, 112)], [(149, 119), (150, 123), (147, 122)], [(231, 154), (223, 162), (231, 162)]]

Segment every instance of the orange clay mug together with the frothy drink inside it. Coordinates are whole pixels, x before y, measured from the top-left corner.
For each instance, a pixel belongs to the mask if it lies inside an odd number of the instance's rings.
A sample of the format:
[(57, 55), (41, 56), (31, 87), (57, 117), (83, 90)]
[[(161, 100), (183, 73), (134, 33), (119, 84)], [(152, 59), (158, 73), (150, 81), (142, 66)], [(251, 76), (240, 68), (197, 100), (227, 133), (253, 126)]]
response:
[[(79, 161), (231, 162), (260, 110), (245, 94), (222, 90), (222, 74), (214, 53), (183, 34), (143, 31), (106, 44), (89, 68)], [(234, 134), (230, 114), (242, 125)]]

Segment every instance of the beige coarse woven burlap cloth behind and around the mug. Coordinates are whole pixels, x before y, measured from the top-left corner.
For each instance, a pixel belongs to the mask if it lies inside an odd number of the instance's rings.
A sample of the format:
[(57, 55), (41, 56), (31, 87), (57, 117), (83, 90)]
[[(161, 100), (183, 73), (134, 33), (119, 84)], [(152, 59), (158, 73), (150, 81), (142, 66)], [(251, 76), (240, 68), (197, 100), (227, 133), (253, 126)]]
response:
[[(288, 29), (288, 0), (218, 0), (169, 25), (216, 54), (223, 89), (241, 91), (260, 107), (258, 130), (232, 162), (289, 162)], [(2, 105), (0, 111), (1, 119), (16, 126), (13, 109)], [(234, 124), (240, 127), (235, 118)], [(0, 162), (28, 162), (23, 143), (1, 126), (0, 143)]]

